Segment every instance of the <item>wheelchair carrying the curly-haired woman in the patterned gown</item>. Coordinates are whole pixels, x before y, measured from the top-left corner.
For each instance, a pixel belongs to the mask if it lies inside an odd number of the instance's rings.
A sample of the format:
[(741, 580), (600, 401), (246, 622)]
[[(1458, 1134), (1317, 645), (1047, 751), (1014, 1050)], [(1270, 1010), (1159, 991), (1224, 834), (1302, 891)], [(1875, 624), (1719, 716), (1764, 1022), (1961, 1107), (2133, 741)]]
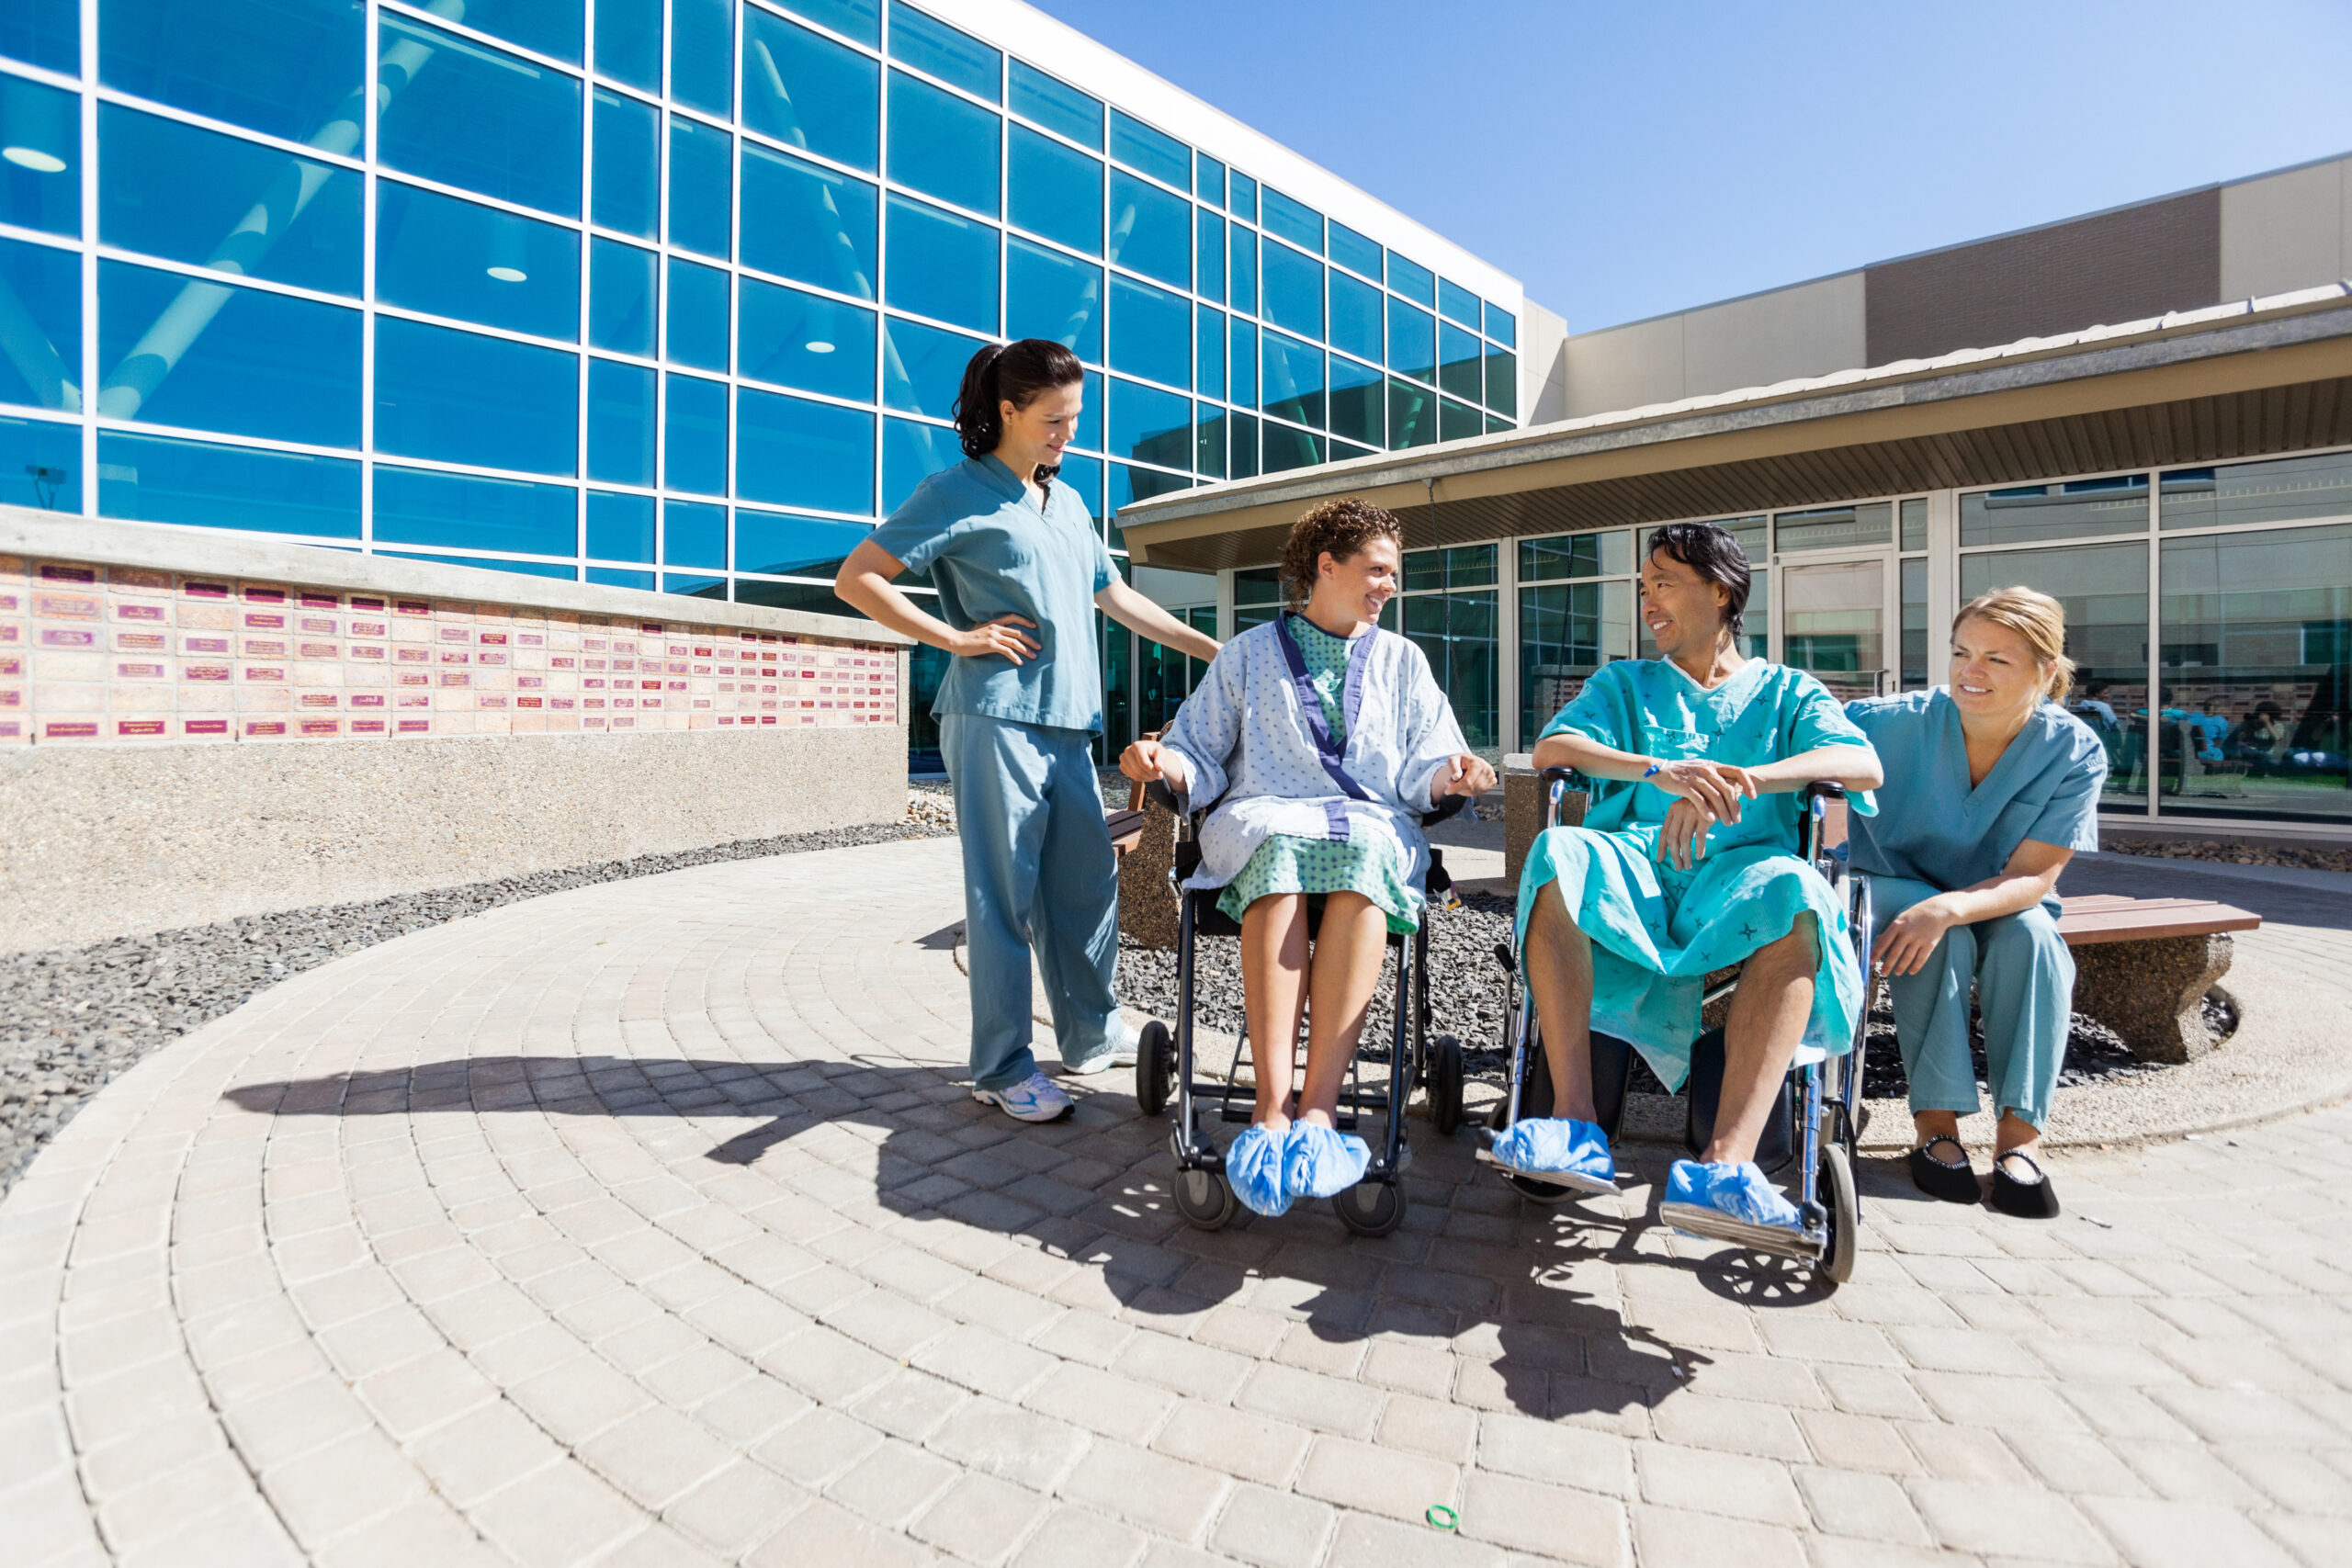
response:
[[(1242, 1067), (1251, 1060), (1249, 1020), (1242, 1023), (1232, 1067), (1223, 1079), (1204, 1079), (1192, 1058), (1192, 957), (1200, 938), (1240, 938), (1242, 924), (1216, 907), (1223, 889), (1185, 889), (1185, 879), (1200, 870), (1200, 823), (1216, 802), (1188, 806), (1167, 783), (1152, 780), (1145, 795), (1176, 816), (1176, 856), (1169, 882), (1176, 889), (1176, 1030), (1150, 1020), (1136, 1041), (1136, 1103), (1145, 1117), (1160, 1117), (1176, 1103), (1176, 1128), (1169, 1138), (1176, 1152), (1176, 1213), (1197, 1229), (1223, 1229), (1240, 1211), (1240, 1199), (1225, 1180), (1225, 1157), (1202, 1133), (1202, 1119), (1214, 1114), (1221, 1121), (1249, 1124), (1256, 1088), (1242, 1081)], [(1456, 816), (1468, 797), (1451, 795), (1444, 806), (1421, 818), (1423, 830)], [(1428, 1088), (1430, 1117), (1439, 1133), (1454, 1133), (1463, 1119), (1463, 1051), (1451, 1034), (1430, 1039), (1430, 938), (1428, 914), (1435, 907), (1461, 907), (1454, 898), (1454, 877), (1446, 872), (1444, 851), (1430, 846), (1430, 875), (1423, 896), (1421, 931), (1411, 936), (1388, 933), (1388, 950), (1397, 954), (1397, 994), (1390, 1009), (1392, 1037), (1388, 1051), (1388, 1079), (1364, 1084), (1364, 1041), (1348, 1063), (1348, 1079), (1338, 1095), (1338, 1128), (1355, 1133), (1364, 1117), (1381, 1119), (1381, 1138), (1364, 1138), (1371, 1145), (1371, 1164), (1364, 1180), (1331, 1199), (1341, 1222), (1359, 1237), (1385, 1237), (1404, 1225), (1404, 1187), (1397, 1178), (1411, 1164), (1414, 1150), (1404, 1140), (1404, 1107), (1414, 1088)], [(1322, 898), (1308, 900), (1308, 938), (1319, 931)], [(1258, 1053), (1270, 1070), (1296, 1072), (1298, 1041), (1279, 1053), (1272, 1041), (1261, 1041)]]

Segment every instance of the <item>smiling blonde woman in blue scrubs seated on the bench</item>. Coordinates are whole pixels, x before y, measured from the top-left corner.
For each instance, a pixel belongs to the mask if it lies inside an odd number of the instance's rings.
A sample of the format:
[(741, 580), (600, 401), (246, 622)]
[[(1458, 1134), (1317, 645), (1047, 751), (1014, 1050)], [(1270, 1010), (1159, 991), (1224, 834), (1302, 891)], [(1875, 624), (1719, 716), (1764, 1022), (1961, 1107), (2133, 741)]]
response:
[(1872, 959), (1910, 1077), (1912, 1182), (1955, 1204), (1985, 1199), (1959, 1147), (1959, 1119), (1978, 1110), (1973, 985), (1999, 1107), (1992, 1206), (2044, 1220), (2058, 1197), (2032, 1147), (2074, 999), (2058, 872), (2077, 849), (2098, 849), (2107, 783), (2107, 750), (2060, 708), (2072, 677), (2058, 599), (1997, 588), (1952, 623), (1952, 684), (1846, 705), (1886, 759), (1884, 811), (1853, 825), (1853, 870), (1870, 875)]

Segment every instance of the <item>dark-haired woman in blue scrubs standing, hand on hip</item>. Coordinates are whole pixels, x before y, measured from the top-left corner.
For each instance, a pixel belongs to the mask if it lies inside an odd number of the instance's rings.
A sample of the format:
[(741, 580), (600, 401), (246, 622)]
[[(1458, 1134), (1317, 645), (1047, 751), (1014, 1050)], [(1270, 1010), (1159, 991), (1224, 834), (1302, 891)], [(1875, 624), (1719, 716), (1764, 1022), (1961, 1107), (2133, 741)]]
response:
[[(1103, 672), (1094, 611), (1192, 658), (1216, 642), (1127, 585), (1068, 484), (1054, 484), (1087, 374), (1061, 343), (988, 346), (964, 367), (964, 461), (915, 487), (849, 552), (842, 599), (955, 656), (938, 684), (938, 745), (964, 842), (971, 1095), (1021, 1121), (1070, 1112), (1030, 1056), (1030, 940), (1070, 1072), (1134, 1060), (1110, 994), (1117, 870), (1094, 773)], [(929, 569), (943, 621), (891, 578)]]

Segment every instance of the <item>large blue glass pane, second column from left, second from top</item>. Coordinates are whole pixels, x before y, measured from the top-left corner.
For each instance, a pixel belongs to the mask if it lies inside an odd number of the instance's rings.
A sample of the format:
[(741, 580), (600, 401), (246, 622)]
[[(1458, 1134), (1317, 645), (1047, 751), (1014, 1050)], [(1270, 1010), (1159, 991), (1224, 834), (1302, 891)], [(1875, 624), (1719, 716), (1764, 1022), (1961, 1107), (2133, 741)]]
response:
[[(19, 158), (14, 143), (0, 155)], [(327, 294), (360, 292), (355, 169), (120, 103), (99, 106), (99, 167), (106, 244)]]

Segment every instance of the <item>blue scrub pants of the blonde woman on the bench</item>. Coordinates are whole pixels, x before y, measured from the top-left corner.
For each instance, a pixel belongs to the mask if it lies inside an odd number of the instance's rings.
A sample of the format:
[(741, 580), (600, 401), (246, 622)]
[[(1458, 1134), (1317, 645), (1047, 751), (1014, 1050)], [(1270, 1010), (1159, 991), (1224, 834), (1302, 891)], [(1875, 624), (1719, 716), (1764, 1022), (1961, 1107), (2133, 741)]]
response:
[[(1903, 910), (1943, 889), (1907, 877), (1872, 877), (1879, 931)], [(1926, 969), (1891, 976), (1896, 1041), (1910, 1077), (1912, 1110), (1978, 1110), (1969, 1060), (1969, 983), (1985, 1020), (1985, 1077), (1999, 1110), (2037, 1128), (2049, 1121), (2074, 1006), (2074, 957), (2042, 905), (1952, 926)]]

